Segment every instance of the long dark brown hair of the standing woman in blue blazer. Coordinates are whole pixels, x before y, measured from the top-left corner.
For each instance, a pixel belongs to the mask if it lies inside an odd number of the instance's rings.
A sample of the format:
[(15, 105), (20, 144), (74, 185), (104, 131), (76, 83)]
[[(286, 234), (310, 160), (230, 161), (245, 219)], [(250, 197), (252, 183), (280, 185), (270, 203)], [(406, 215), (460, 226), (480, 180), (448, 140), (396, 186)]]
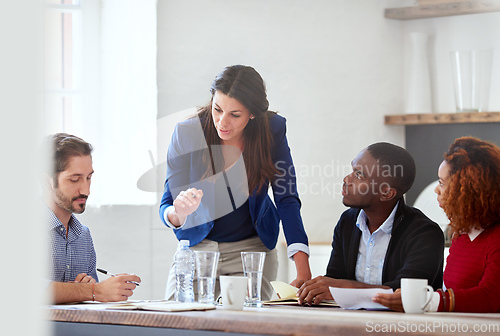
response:
[[(245, 106), (254, 119), (249, 120), (243, 131), (243, 160), (248, 179), (250, 194), (272, 182), (278, 173), (271, 158), (272, 134), (269, 119), (275, 113), (268, 110), (266, 88), (262, 77), (255, 69), (243, 65), (225, 68), (212, 83), (210, 92), (223, 93), (238, 100)], [(222, 153), (218, 150), (221, 139), (212, 118), (212, 102), (198, 110), (198, 117), (209, 148), (210, 158), (205, 157), (207, 175), (224, 169)]]

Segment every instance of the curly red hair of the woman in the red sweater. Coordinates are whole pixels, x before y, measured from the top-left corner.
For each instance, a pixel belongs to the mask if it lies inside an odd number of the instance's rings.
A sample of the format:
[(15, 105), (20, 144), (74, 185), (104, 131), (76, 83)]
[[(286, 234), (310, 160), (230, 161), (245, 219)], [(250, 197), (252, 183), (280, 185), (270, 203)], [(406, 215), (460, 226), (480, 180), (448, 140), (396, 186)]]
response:
[(500, 148), (474, 137), (458, 138), (444, 156), (450, 165), (443, 209), (451, 234), (500, 222)]

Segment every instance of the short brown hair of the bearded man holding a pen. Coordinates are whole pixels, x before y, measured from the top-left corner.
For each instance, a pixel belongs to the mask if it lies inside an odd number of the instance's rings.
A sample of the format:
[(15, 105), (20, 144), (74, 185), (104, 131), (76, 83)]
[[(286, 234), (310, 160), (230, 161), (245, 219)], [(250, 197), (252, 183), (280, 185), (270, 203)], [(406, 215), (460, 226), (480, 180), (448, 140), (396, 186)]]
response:
[(48, 142), (50, 143), (49, 153), (52, 159), (49, 165), (56, 183), (58, 174), (66, 170), (71, 157), (91, 155), (93, 150), (92, 145), (88, 142), (67, 133), (56, 133), (49, 136)]

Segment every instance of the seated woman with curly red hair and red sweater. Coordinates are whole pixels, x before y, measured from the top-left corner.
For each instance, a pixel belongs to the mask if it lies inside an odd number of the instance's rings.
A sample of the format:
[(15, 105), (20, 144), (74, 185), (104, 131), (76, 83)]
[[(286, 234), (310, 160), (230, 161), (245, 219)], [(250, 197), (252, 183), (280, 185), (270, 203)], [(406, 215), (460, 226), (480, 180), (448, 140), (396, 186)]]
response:
[[(474, 137), (456, 139), (445, 153), (435, 189), (450, 219), (452, 245), (445, 290), (429, 311), (500, 312), (500, 148)], [(403, 311), (401, 293), (373, 299)]]

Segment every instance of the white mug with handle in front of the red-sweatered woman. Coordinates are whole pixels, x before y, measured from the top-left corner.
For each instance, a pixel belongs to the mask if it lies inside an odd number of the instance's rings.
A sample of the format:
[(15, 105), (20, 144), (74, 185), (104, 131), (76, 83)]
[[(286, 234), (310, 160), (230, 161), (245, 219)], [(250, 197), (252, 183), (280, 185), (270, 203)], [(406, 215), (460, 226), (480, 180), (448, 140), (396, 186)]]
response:
[(406, 313), (422, 314), (432, 299), (434, 290), (427, 279), (401, 279), (401, 300)]

